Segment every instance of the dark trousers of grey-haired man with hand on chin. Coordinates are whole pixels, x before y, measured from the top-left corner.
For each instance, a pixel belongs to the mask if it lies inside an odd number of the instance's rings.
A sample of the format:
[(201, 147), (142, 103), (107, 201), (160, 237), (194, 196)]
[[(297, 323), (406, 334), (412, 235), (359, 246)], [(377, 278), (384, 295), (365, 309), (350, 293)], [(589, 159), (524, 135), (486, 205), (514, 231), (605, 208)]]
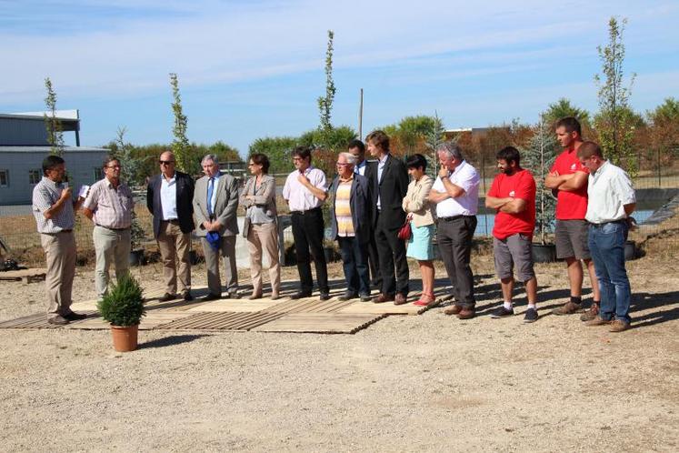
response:
[(438, 222), (438, 248), (445, 270), (453, 284), (455, 304), (474, 308), (474, 274), (469, 261), (472, 255), (472, 237), (476, 229), (476, 216), (459, 216)]

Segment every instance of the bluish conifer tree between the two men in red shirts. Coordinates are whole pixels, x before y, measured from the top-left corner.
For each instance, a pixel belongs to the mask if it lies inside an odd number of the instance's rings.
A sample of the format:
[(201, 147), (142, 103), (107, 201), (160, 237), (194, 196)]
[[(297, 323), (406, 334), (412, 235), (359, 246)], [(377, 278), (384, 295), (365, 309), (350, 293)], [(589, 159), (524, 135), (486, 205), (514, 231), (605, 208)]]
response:
[(551, 231), (554, 226), (556, 210), (556, 199), (552, 195), (552, 191), (544, 186), (544, 176), (554, 165), (559, 147), (552, 125), (544, 121), (544, 116), (541, 115), (540, 118), (540, 123), (534, 126), (534, 136), (531, 138), (528, 147), (521, 149), (521, 161), (535, 178), (537, 189), (535, 194), (535, 229), (540, 232), (540, 240), (544, 244), (545, 233)]

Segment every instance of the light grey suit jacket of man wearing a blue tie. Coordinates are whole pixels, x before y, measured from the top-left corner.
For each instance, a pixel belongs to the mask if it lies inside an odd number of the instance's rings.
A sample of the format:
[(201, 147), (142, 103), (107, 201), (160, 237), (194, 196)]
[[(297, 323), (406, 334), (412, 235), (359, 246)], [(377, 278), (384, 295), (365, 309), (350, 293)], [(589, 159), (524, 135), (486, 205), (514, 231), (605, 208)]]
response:
[[(194, 214), (195, 235), (205, 237), (207, 230), (203, 222), (209, 221), (207, 214), (207, 182), (209, 177), (203, 176), (195, 182)], [(219, 236), (235, 236), (238, 234), (238, 221), (236, 209), (238, 209), (238, 183), (234, 176), (222, 173), (215, 187), (215, 212), (213, 217), (219, 222)]]

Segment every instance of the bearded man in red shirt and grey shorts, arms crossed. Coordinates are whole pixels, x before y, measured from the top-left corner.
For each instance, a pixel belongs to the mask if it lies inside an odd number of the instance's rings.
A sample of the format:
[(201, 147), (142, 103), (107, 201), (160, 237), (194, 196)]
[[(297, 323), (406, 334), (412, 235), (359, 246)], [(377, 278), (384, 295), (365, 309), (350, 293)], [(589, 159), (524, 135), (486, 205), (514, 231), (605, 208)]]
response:
[(524, 322), (537, 320), (537, 279), (533, 270), (533, 231), (535, 229), (535, 180), (521, 167), (516, 148), (507, 146), (497, 152), (497, 168), (493, 185), (485, 196), (485, 206), (495, 209), (493, 253), (495, 272), (500, 278), (504, 304), (491, 317), (514, 315), (512, 290), (514, 266), (519, 280), (524, 282), (528, 308)]

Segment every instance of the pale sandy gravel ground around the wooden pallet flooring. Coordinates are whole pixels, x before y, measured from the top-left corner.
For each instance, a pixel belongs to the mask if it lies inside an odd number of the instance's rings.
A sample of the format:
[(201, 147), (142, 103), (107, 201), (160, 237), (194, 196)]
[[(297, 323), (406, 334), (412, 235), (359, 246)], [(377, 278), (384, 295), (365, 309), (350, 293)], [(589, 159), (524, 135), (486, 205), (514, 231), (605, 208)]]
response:
[[(629, 263), (634, 328), (609, 334), (537, 267), (541, 317), (491, 319), (499, 286), (474, 256), (481, 316), (388, 317), (355, 335), (0, 330), (4, 451), (679, 449), (679, 275)], [(413, 270), (412, 276), (417, 272)], [(155, 270), (154, 270), (155, 269)], [(145, 267), (142, 277), (157, 275)], [(294, 268), (286, 274), (295, 275)], [(333, 266), (334, 275), (341, 267)], [(76, 299), (92, 298), (79, 269)], [(195, 271), (195, 283), (204, 272)], [(439, 269), (437, 277), (443, 277)], [(43, 284), (0, 282), (0, 320), (44, 309)]]

